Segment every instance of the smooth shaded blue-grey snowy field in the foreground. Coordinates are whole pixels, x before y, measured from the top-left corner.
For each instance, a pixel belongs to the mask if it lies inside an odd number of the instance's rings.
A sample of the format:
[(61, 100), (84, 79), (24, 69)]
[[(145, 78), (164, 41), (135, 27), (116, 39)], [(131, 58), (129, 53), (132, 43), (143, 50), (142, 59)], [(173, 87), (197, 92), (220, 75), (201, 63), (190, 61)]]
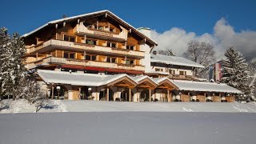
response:
[(1, 114), (1, 144), (255, 144), (254, 113)]

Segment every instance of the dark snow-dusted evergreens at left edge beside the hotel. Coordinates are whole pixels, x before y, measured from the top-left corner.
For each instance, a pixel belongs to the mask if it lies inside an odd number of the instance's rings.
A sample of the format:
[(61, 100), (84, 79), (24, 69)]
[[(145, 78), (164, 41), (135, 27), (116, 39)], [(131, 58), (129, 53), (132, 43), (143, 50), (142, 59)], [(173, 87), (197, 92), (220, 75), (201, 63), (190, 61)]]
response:
[(6, 28), (0, 29), (0, 94), (12, 95), (13, 98), (20, 94), (20, 83), (24, 78), (26, 68), (24, 56), (26, 47), (18, 34), (12, 37)]

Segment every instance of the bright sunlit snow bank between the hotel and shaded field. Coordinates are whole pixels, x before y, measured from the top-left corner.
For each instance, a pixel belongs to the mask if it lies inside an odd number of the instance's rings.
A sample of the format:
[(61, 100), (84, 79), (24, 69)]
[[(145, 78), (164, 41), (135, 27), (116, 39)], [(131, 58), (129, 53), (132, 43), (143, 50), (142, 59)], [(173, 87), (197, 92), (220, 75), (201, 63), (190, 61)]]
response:
[[(42, 107), (39, 113), (47, 112), (249, 112), (256, 113), (256, 102), (103, 102), (54, 100)], [(26, 100), (10, 101), (10, 108), (0, 113), (34, 113), (35, 106)]]

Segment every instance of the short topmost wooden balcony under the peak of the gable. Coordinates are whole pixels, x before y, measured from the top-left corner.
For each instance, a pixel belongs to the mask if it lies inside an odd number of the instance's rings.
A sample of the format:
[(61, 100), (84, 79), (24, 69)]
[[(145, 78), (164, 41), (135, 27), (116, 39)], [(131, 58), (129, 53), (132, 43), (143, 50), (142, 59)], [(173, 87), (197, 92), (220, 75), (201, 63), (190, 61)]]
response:
[(128, 30), (122, 29), (122, 32), (118, 34), (118, 33), (110, 32), (106, 30), (97, 30), (97, 29), (87, 28), (82, 23), (80, 23), (74, 28), (74, 33), (80, 36), (86, 35), (87, 37), (90, 37), (90, 38), (101, 38), (101, 39), (110, 40), (114, 42), (126, 42)]

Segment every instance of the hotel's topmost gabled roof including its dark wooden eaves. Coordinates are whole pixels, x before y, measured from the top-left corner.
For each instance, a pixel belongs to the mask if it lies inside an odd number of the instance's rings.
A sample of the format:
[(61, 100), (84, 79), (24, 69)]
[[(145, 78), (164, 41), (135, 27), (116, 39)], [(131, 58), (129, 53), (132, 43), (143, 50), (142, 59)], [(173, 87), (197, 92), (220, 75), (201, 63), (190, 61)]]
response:
[(139, 32), (136, 28), (134, 28), (134, 26), (131, 26), (128, 22), (122, 20), (122, 18), (119, 18), (117, 15), (112, 13), (110, 10), (100, 10), (100, 11), (96, 11), (93, 13), (81, 14), (81, 15), (76, 15), (73, 17), (61, 18), (61, 19), (57, 19), (54, 21), (50, 21), (50, 22), (47, 22), (46, 24), (44, 24), (43, 26), (40, 26), (37, 29), (30, 31), (27, 34), (23, 34), (22, 37), (27, 37), (30, 34), (34, 34), (38, 30), (42, 30), (43, 28), (45, 28), (47, 26), (54, 26), (55, 24), (58, 24), (60, 22), (74, 22), (74, 21), (78, 20), (79, 18), (86, 18), (86, 17), (90, 17), (90, 16), (94, 16), (94, 15), (99, 16), (99, 15), (105, 15), (105, 14), (107, 14), (107, 16), (109, 16), (111, 18), (114, 18), (115, 21), (121, 23), (122, 26), (126, 27), (127, 29), (131, 29), (135, 34), (138, 34), (139, 37), (146, 38), (146, 42), (150, 42), (151, 45), (154, 45), (154, 46), (158, 45), (157, 42), (154, 42), (154, 40), (152, 40), (151, 38), (146, 37), (146, 35)]

